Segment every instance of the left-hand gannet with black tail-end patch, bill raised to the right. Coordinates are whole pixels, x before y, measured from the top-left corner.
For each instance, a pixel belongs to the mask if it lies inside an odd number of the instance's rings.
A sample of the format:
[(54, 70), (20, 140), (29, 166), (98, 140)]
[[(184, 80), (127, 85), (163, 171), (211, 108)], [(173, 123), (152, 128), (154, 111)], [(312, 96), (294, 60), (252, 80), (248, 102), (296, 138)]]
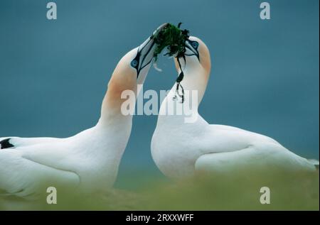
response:
[(118, 62), (94, 127), (69, 138), (0, 138), (0, 194), (35, 199), (48, 185), (84, 193), (112, 187), (132, 129), (132, 115), (121, 111), (127, 101), (121, 94), (131, 90), (137, 97), (137, 84), (144, 82), (154, 57), (154, 35), (165, 26)]

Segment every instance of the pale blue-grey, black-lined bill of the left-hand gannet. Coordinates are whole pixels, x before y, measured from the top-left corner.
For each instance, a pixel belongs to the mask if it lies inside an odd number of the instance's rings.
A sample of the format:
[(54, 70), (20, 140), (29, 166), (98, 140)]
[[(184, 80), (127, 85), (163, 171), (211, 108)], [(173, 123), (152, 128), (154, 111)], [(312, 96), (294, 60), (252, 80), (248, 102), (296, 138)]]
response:
[(132, 60), (131, 65), (137, 70), (138, 83), (142, 84), (149, 72), (151, 62), (154, 58), (154, 50), (156, 50), (156, 43), (154, 43), (154, 36), (164, 29), (168, 23), (164, 23), (152, 33), (152, 35), (137, 48), (137, 55)]

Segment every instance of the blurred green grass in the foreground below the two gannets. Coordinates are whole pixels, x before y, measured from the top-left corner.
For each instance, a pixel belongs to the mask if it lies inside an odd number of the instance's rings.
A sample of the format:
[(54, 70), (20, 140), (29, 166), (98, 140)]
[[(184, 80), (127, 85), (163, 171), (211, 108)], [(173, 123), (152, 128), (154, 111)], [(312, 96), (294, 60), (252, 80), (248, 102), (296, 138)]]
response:
[[(139, 177), (140, 187), (125, 190)], [(137, 181), (137, 180), (136, 180)], [(260, 188), (270, 187), (270, 204), (260, 204)], [(1, 205), (1, 202), (0, 202)], [(58, 190), (58, 204), (16, 204), (19, 210), (319, 210), (319, 172), (315, 174), (200, 175), (171, 182), (144, 173), (128, 173), (122, 190), (75, 194)]]

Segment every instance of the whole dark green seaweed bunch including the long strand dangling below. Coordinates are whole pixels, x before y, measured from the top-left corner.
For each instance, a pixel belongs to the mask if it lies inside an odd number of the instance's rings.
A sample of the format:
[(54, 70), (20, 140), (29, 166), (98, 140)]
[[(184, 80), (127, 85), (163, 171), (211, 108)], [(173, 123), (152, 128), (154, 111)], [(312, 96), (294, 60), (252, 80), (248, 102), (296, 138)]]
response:
[[(156, 70), (159, 70), (156, 67), (156, 60), (158, 60), (158, 55), (167, 48), (168, 52), (165, 55), (169, 55), (170, 57), (176, 57), (178, 61), (178, 65), (180, 67), (180, 74), (176, 79), (176, 97), (181, 97), (181, 103), (184, 101), (184, 91), (183, 87), (181, 86), (180, 82), (183, 79), (183, 71), (181, 68), (180, 58), (182, 57), (183, 60), (186, 60), (186, 40), (189, 38), (189, 31), (184, 29), (181, 30), (180, 26), (182, 23), (179, 23), (178, 26), (174, 26), (171, 23), (160, 31), (157, 35), (154, 36), (154, 42), (158, 45), (156, 50), (154, 51), (154, 67)], [(181, 93), (179, 93), (179, 88), (181, 87)]]

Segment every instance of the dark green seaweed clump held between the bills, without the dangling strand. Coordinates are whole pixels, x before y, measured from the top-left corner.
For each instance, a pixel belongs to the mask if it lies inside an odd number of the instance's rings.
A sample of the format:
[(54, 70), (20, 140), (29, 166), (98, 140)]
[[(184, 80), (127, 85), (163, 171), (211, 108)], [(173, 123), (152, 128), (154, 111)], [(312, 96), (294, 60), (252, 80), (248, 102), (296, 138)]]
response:
[(158, 59), (158, 55), (164, 48), (169, 50), (165, 55), (175, 56), (177, 58), (184, 57), (189, 31), (186, 29), (181, 30), (181, 24), (182, 23), (179, 23), (178, 26), (174, 26), (171, 23), (168, 23), (162, 31), (154, 35), (154, 42), (158, 45), (154, 51), (155, 61)]

